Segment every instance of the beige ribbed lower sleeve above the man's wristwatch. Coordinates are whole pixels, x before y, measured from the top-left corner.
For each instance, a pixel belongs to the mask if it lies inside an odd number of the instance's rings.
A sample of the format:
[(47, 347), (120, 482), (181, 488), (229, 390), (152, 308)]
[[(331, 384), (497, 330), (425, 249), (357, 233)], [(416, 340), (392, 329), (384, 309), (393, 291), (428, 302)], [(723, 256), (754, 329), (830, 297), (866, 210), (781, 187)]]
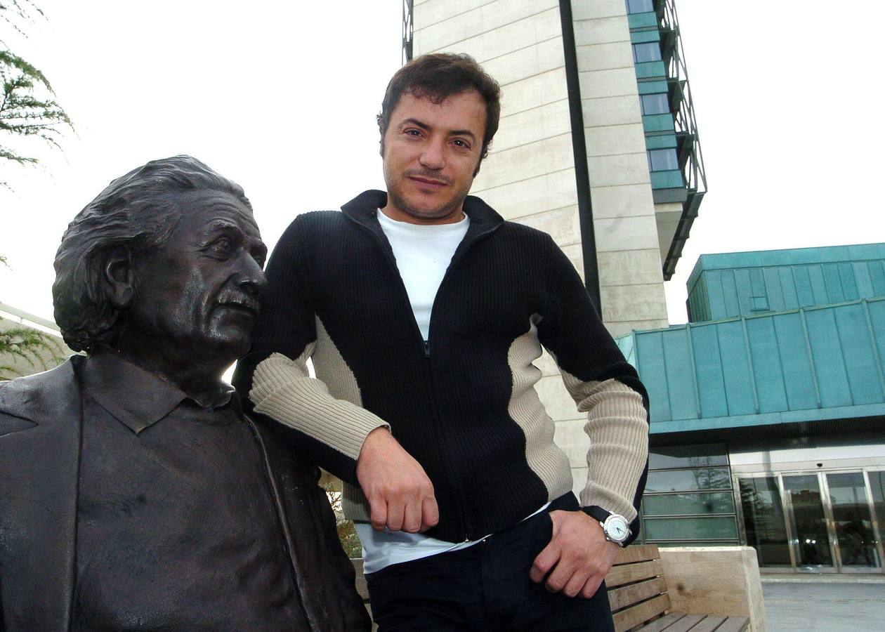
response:
[(581, 506), (598, 505), (633, 520), (633, 497), (649, 454), (643, 397), (617, 380), (582, 382), (566, 371), (562, 378), (578, 410), (589, 413), (584, 426), (590, 437), (587, 485), (581, 491)]

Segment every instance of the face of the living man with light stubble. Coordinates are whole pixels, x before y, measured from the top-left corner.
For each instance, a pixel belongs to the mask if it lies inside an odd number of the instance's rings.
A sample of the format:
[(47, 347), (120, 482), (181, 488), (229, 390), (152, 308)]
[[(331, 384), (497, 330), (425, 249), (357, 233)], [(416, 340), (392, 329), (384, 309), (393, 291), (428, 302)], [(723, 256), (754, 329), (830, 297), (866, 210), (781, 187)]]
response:
[(485, 131), (486, 104), (476, 90), (439, 104), (404, 94), (382, 139), (388, 189), (384, 212), (413, 224), (460, 220)]

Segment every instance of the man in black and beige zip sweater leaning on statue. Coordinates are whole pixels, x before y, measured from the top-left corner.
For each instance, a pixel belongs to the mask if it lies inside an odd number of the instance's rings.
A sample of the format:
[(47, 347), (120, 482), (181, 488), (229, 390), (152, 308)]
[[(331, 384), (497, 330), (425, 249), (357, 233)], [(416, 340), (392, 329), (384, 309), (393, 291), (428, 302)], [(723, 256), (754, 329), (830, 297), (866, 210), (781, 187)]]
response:
[[(387, 193), (296, 218), (235, 378), (346, 483), (381, 630), (611, 629), (598, 589), (638, 530), (642, 384), (550, 236), (467, 195), (499, 112), (466, 56), (396, 73)], [(542, 345), (589, 412), (580, 505), (534, 389)]]

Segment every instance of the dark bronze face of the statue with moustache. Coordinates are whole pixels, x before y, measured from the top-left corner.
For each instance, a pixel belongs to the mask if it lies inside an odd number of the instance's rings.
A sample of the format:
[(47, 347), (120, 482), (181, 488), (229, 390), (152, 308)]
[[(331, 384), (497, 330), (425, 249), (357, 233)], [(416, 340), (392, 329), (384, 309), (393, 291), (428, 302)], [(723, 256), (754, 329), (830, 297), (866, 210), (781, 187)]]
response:
[[(135, 261), (125, 342), (158, 370), (164, 362), (233, 361), (249, 350), (267, 248), (250, 210), (220, 191), (178, 198), (172, 235)], [(135, 344), (133, 344), (135, 343)]]

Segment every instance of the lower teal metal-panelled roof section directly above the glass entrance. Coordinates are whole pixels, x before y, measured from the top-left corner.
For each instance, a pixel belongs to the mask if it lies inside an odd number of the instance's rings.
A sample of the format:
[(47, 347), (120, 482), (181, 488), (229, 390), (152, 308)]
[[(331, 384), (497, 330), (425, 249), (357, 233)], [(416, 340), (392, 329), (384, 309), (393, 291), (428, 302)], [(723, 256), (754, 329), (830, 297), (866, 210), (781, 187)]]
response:
[(618, 340), (651, 433), (885, 415), (885, 298), (635, 331)]

